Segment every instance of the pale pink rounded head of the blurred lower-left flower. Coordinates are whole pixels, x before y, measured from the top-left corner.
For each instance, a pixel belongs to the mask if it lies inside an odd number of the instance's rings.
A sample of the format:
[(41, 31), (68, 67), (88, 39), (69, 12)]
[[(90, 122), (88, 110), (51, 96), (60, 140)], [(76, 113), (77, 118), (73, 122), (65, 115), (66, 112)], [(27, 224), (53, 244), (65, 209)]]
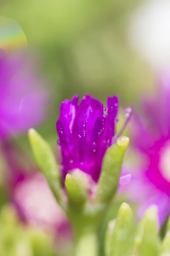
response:
[(34, 172), (17, 184), (12, 200), (21, 219), (27, 224), (54, 232), (57, 240), (71, 239), (72, 230), (68, 219), (39, 172)]

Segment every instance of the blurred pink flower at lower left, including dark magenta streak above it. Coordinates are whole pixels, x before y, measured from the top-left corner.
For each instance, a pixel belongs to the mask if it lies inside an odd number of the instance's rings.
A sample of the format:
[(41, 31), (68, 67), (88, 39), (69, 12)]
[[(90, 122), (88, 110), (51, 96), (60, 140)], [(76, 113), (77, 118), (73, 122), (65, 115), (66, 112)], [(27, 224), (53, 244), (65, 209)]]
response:
[(9, 200), (16, 207), (20, 219), (56, 237), (61, 247), (71, 241), (73, 232), (64, 211), (57, 204), (43, 175), (14, 141), (3, 142), (7, 161), (5, 187)]

